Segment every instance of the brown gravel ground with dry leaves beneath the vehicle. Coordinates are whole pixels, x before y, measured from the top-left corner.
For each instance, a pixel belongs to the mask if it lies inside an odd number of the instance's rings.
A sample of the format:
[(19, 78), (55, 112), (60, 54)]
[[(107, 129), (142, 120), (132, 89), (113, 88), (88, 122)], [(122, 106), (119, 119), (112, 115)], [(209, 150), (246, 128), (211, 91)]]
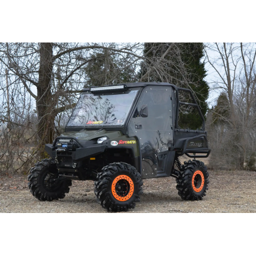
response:
[[(256, 173), (209, 170), (209, 190), (202, 201), (183, 201), (173, 177), (144, 180), (141, 202), (129, 212), (256, 212)], [(0, 212), (107, 212), (96, 201), (93, 181), (73, 181), (61, 200), (41, 202), (27, 187), (27, 177), (0, 176)]]

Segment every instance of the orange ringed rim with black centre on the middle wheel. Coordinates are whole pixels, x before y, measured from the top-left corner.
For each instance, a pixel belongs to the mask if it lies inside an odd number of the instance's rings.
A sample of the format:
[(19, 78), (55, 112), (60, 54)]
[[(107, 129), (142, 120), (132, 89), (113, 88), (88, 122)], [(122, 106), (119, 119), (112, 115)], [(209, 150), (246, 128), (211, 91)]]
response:
[(118, 201), (127, 201), (133, 196), (134, 184), (126, 175), (117, 176), (112, 183), (112, 194)]

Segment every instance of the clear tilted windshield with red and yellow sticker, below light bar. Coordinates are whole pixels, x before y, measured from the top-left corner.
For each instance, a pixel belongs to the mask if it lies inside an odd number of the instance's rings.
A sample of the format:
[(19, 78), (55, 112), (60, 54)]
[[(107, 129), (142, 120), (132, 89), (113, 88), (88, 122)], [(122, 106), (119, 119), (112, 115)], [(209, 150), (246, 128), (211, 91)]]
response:
[(82, 94), (67, 126), (122, 125), (138, 90), (124, 94)]

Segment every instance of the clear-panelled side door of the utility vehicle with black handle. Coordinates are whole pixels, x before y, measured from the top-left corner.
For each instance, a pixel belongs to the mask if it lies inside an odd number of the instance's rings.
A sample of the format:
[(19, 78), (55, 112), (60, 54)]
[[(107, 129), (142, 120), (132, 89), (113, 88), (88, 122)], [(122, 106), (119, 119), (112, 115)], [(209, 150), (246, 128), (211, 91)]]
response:
[[(128, 135), (136, 136), (140, 143), (141, 175), (144, 179), (166, 175), (168, 146), (173, 143), (172, 94), (172, 87), (145, 87), (128, 125)], [(140, 114), (142, 106), (147, 108), (147, 117)]]

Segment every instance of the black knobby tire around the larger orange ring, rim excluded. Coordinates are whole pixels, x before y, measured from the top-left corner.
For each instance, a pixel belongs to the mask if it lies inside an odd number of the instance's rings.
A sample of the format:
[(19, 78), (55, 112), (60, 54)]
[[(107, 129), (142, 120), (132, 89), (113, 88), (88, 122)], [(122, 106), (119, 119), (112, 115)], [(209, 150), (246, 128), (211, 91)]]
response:
[[(129, 177), (134, 184), (133, 194), (126, 201), (117, 200), (112, 193), (112, 183), (120, 175)], [(104, 209), (108, 211), (127, 211), (134, 208), (136, 202), (140, 202), (140, 195), (143, 193), (143, 181), (134, 166), (123, 162), (111, 163), (102, 168), (102, 173), (97, 175), (97, 179), (94, 182), (94, 194)]]

